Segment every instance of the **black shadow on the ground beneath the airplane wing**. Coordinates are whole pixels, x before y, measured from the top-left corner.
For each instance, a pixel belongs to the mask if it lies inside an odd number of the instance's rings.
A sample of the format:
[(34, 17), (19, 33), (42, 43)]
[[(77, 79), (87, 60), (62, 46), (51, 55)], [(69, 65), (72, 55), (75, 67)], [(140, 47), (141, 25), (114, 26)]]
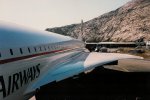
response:
[(36, 100), (150, 100), (150, 73), (119, 72), (99, 67), (42, 86)]

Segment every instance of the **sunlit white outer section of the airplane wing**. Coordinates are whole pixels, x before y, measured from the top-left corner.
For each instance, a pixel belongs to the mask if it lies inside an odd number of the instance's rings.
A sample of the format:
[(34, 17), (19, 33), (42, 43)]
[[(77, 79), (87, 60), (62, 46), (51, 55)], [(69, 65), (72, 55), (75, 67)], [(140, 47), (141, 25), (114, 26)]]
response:
[(102, 66), (104, 64), (120, 60), (120, 59), (143, 59), (143, 57), (128, 55), (128, 54), (118, 54), (118, 53), (90, 53), (89, 56), (84, 61), (85, 70), (90, 70), (92, 68)]

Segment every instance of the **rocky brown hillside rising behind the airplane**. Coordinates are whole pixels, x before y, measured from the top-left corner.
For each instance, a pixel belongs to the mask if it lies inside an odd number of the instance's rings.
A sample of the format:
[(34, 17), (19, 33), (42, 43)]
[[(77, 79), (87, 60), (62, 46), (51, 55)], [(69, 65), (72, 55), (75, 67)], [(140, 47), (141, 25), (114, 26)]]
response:
[[(81, 27), (83, 31), (81, 31)], [(81, 24), (47, 31), (88, 42), (150, 40), (150, 0), (132, 0), (122, 7)]]

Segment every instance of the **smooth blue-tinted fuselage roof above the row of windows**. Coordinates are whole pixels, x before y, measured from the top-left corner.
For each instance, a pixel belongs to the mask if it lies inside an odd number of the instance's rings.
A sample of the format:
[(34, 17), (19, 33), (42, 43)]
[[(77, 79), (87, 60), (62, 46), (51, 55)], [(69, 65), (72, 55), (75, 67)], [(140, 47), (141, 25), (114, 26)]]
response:
[(0, 23), (0, 48), (16, 48), (73, 40), (52, 32), (35, 31)]

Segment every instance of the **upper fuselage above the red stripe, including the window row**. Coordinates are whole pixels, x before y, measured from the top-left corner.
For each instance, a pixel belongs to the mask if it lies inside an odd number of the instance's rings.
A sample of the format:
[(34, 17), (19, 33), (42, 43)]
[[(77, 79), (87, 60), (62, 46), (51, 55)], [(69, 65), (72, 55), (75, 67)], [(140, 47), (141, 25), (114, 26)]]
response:
[[(0, 60), (72, 48), (73, 46), (83, 47), (83, 45), (82, 42), (68, 36), (0, 23)], [(10, 49), (12, 49), (13, 55), (10, 53)], [(23, 53), (20, 52), (20, 49)]]

